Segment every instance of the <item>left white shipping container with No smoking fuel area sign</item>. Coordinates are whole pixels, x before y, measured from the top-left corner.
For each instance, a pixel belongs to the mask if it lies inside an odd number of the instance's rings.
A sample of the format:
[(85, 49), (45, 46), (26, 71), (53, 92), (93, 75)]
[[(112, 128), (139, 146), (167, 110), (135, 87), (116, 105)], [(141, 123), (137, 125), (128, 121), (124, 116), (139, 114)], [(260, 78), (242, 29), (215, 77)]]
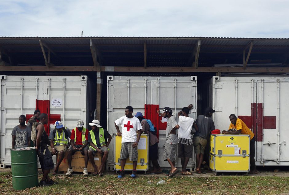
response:
[[(20, 115), (31, 115), (36, 99), (50, 100), (50, 115), (59, 115), (61, 122), (70, 131), (78, 119), (87, 126), (89, 112), (94, 109), (88, 101), (92, 98), (93, 84), (87, 76), (0, 76), (0, 162), (1, 167), (11, 165), (10, 149), (12, 129), (19, 124)], [(57, 103), (53, 103), (55, 101)], [(89, 99), (90, 100), (90, 99)], [(47, 113), (48, 114), (48, 113)], [(50, 124), (50, 130), (54, 125)], [(55, 162), (55, 156), (53, 158)]]

